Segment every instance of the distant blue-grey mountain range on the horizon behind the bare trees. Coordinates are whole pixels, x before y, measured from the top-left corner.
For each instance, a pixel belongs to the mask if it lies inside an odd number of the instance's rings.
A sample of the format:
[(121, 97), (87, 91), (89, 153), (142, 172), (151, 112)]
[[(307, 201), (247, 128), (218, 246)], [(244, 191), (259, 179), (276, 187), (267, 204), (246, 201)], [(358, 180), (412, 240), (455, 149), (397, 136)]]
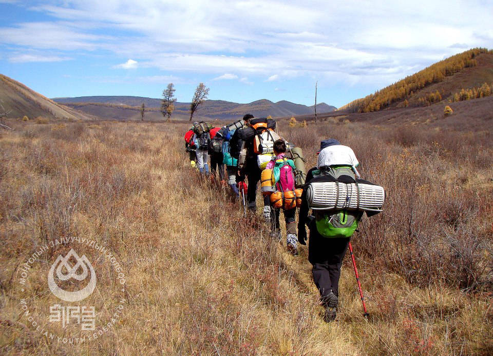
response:
[[(71, 108), (84, 111), (102, 118), (135, 120), (140, 115), (142, 103), (147, 108), (146, 117), (162, 119), (160, 113), (161, 100), (140, 96), (80, 96), (58, 97), (53, 101)], [(186, 120), (189, 118), (190, 103), (175, 103), (173, 118)], [(317, 113), (335, 110), (334, 106), (325, 103), (317, 104)], [(288, 101), (273, 103), (262, 99), (249, 104), (232, 103), (223, 100), (207, 100), (197, 109), (194, 117), (206, 120), (235, 120), (245, 113), (256, 117), (297, 116), (313, 113), (313, 106), (294, 104)]]

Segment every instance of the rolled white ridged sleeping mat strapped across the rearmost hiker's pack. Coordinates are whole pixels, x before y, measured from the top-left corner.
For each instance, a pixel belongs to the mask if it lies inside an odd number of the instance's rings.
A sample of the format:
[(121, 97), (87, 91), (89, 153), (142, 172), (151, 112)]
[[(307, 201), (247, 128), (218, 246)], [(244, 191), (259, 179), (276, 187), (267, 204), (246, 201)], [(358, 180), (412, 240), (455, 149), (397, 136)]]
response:
[(382, 211), (385, 191), (371, 184), (316, 182), (308, 186), (307, 200), (314, 210)]

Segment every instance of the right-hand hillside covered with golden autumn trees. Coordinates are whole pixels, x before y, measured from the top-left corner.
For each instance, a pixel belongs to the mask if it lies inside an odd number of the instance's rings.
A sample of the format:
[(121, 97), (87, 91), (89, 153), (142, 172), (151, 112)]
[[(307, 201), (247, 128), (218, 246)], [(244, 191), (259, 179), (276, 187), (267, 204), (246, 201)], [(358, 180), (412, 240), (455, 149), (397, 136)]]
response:
[[(372, 112), (448, 102), (461, 89), (493, 86), (493, 51), (475, 48), (453, 55), (341, 109)], [(479, 96), (478, 96), (479, 97)]]

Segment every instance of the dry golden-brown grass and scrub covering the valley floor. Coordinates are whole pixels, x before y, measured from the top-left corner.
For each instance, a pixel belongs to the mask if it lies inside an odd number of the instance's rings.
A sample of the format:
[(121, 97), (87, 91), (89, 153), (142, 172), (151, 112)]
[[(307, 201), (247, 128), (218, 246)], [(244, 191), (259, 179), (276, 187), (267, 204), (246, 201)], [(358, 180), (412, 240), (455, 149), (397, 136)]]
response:
[[(226, 191), (189, 170), (186, 124), (22, 125), (0, 132), (2, 354), (493, 352), (488, 131), (281, 125), (309, 165), (321, 138), (348, 144), (363, 175), (388, 192), (385, 213), (365, 220), (353, 239), (370, 318), (362, 317), (346, 261), (340, 314), (325, 324), (306, 248), (297, 258), (287, 254), (261, 222), (242, 217)], [(20, 309), (27, 293), (35, 313), (47, 315), (54, 301), (47, 266), (70, 243), (35, 264), (26, 293), (16, 283), (18, 264), (37, 246), (68, 236), (116, 251), (127, 276), (119, 324), (80, 345), (47, 340)], [(115, 276), (97, 273), (101, 284), (90, 301), (104, 321)]]

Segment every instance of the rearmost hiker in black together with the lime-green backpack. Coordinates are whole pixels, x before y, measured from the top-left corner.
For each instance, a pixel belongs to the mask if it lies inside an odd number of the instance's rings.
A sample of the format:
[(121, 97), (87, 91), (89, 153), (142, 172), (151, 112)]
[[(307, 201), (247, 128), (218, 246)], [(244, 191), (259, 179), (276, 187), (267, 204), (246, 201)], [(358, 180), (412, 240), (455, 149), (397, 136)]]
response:
[[(317, 167), (312, 168), (307, 173), (301, 196), (298, 242), (306, 245), (307, 231), (305, 226), (308, 225), (310, 229), (308, 260), (313, 266), (313, 281), (320, 292), (320, 304), (326, 308), (324, 320), (330, 322), (336, 316), (340, 267), (342, 266), (350, 237), (356, 230), (363, 211), (318, 210), (312, 204), (313, 215), (309, 216), (309, 200), (313, 201), (316, 196), (313, 197), (312, 195), (318, 194), (316, 191), (313, 193), (313, 189), (310, 190), (311, 184), (311, 188), (313, 188), (313, 183), (335, 182), (334, 184), (337, 185), (338, 189), (341, 182), (355, 182), (356, 176), (358, 176), (356, 166), (358, 166), (359, 162), (353, 150), (350, 147), (341, 145), (337, 140), (328, 139), (322, 141), (320, 143), (320, 151), (317, 154)], [(340, 186), (343, 187), (342, 185)], [(339, 190), (337, 190), (338, 193)], [(320, 193), (319, 196), (324, 199), (324, 194), (326, 194), (326, 191)], [(339, 195), (337, 195), (338, 197)], [(335, 205), (338, 206), (338, 204), (336, 200)]]

